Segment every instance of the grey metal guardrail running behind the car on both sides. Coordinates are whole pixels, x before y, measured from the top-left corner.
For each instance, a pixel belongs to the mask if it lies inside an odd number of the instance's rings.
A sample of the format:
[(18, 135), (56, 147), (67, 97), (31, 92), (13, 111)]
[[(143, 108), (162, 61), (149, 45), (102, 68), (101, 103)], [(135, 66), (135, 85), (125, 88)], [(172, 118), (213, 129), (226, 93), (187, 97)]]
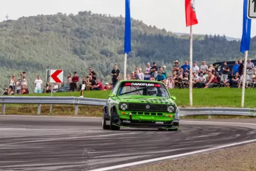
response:
[[(75, 105), (74, 114), (78, 114), (78, 106), (104, 106), (106, 99), (81, 97), (40, 97), (40, 96), (0, 96), (2, 115), (5, 114), (5, 104), (38, 104), (37, 114), (40, 115), (41, 105)], [(180, 116), (256, 116), (256, 108), (180, 108)]]

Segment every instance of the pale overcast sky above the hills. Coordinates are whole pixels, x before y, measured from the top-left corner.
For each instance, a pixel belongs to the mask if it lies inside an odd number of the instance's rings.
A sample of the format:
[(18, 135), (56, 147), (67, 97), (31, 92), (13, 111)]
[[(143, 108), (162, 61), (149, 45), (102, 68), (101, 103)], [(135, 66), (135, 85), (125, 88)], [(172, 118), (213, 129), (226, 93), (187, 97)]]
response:
[[(189, 33), (185, 25), (185, 0), (130, 0), (131, 17), (172, 32)], [(39, 14), (77, 14), (79, 11), (125, 16), (125, 0), (5, 0), (0, 3), (0, 21)], [(193, 33), (241, 38), (243, 0), (195, 0), (198, 24)], [(255, 28), (255, 29), (254, 29)], [(256, 36), (252, 20), (251, 37)]]

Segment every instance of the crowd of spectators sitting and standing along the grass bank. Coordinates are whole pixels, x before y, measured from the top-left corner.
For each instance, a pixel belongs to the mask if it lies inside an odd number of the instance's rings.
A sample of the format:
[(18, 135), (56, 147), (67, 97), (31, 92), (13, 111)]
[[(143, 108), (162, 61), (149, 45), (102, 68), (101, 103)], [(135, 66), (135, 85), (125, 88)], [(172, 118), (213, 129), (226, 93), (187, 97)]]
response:
[[(168, 89), (175, 88), (189, 88), (190, 71), (192, 70), (192, 86), (193, 88), (214, 88), (214, 87), (231, 87), (240, 88), (243, 82), (243, 70), (244, 64), (242, 59), (235, 61), (232, 69), (229, 69), (227, 62), (223, 62), (223, 69), (220, 73), (216, 71), (214, 66), (206, 64), (206, 61), (202, 61), (202, 64), (197, 66), (194, 62), (191, 67), (188, 61), (185, 61), (183, 65), (180, 66), (180, 62), (174, 61), (172, 67), (172, 75), (167, 76), (166, 66), (157, 66), (156, 62), (153, 62), (152, 66), (147, 63), (146, 69), (142, 71), (141, 68), (135, 67), (135, 70), (130, 74), (127, 74), (126, 80), (153, 80), (160, 81), (166, 84)], [(231, 77), (228, 76), (229, 71), (231, 72)], [(65, 92), (65, 91), (80, 91), (82, 84), (85, 84), (85, 90), (111, 90), (117, 83), (121, 80), (121, 72), (117, 65), (114, 65), (114, 69), (110, 72), (112, 75), (112, 82), (103, 83), (97, 78), (96, 72), (89, 68), (89, 74), (83, 76), (81, 84), (79, 84), (78, 73), (74, 72), (72, 76), (71, 73), (67, 74), (67, 82), (61, 83), (61, 85), (54, 83), (45, 83), (37, 76), (34, 82), (34, 93), (50, 93), (53, 92)], [(256, 84), (256, 67), (248, 60), (246, 64), (246, 87), (254, 88)], [(28, 90), (28, 78), (25, 72), (21, 72), (19, 78), (12, 75), (9, 82), (9, 87), (4, 88), (4, 95), (21, 95), (29, 93)]]

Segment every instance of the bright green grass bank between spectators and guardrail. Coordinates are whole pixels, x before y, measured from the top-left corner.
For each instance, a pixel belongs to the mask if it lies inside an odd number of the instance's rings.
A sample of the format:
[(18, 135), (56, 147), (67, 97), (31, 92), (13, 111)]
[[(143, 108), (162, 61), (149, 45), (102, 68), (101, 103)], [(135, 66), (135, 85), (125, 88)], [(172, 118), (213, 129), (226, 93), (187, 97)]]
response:
[[(189, 107), (189, 89), (170, 89), (170, 95), (176, 97), (179, 107)], [(84, 97), (107, 99), (110, 91), (85, 91)], [(28, 94), (24, 96), (50, 96), (50, 93)], [(53, 96), (75, 96), (80, 92), (57, 92)], [(245, 90), (244, 107), (256, 107), (256, 89)], [(242, 89), (193, 89), (193, 107), (241, 107)]]

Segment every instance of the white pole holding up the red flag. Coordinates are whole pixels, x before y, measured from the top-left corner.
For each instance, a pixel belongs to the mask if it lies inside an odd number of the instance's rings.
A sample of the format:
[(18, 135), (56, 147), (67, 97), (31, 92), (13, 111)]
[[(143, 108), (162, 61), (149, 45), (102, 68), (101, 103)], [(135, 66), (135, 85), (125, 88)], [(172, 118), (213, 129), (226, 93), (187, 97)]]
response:
[(190, 106), (193, 106), (193, 98), (192, 98), (192, 61), (193, 61), (193, 33), (192, 33), (192, 25), (190, 25), (190, 82), (189, 82), (189, 99)]

